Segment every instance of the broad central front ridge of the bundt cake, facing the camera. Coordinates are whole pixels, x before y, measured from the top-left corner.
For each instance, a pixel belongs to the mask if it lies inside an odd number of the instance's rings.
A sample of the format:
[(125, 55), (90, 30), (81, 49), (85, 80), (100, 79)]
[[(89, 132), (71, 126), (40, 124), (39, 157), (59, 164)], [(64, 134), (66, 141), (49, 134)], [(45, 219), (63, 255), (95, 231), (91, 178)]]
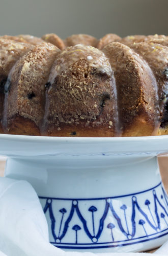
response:
[(76, 45), (60, 52), (46, 96), (44, 126), (49, 134), (71, 134), (74, 129), (79, 134), (81, 129), (91, 136), (92, 130), (103, 127), (104, 136), (117, 136), (113, 72), (101, 51)]

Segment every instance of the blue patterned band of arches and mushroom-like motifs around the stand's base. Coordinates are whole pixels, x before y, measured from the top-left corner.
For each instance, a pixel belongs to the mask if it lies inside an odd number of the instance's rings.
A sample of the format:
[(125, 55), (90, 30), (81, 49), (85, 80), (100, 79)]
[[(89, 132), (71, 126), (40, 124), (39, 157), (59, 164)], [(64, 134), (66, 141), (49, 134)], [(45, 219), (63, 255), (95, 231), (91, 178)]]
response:
[[(140, 204), (138, 202), (141, 194), (145, 198), (143, 205), (142, 200)], [(108, 198), (39, 198), (44, 205), (44, 213), (49, 216), (50, 242), (59, 248), (94, 249), (126, 246), (168, 234), (168, 201), (161, 182), (147, 190)], [(119, 206), (117, 199), (121, 198), (127, 198), (129, 204)], [(92, 205), (90, 201), (93, 201)], [(85, 212), (82, 202), (90, 206), (85, 208)], [(61, 209), (58, 208), (60, 203), (63, 205)], [(103, 213), (98, 216), (98, 211), (102, 208)], [(113, 222), (106, 223), (108, 219)], [(117, 239), (119, 232), (120, 240)], [(141, 236), (137, 236), (137, 233), (141, 233)]]

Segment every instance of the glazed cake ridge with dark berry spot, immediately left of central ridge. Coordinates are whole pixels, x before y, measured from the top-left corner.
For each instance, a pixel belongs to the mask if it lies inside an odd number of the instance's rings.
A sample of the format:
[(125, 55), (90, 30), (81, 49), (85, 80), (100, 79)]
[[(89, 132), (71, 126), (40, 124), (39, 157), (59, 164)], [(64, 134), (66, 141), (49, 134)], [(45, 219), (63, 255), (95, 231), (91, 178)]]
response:
[(11, 129), (14, 115), (30, 119), (39, 126), (44, 115), (45, 83), (58, 51), (57, 47), (43, 42), (13, 67), (5, 97), (4, 129)]

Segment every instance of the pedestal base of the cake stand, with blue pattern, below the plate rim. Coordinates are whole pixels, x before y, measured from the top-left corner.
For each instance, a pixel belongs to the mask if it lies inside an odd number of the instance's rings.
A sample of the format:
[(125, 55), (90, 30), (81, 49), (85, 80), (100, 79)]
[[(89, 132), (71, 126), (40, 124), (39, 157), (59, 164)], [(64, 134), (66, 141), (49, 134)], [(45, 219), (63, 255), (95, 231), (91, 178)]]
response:
[(8, 158), (5, 173), (32, 184), (50, 242), (64, 250), (143, 251), (168, 238), (167, 195), (156, 156)]

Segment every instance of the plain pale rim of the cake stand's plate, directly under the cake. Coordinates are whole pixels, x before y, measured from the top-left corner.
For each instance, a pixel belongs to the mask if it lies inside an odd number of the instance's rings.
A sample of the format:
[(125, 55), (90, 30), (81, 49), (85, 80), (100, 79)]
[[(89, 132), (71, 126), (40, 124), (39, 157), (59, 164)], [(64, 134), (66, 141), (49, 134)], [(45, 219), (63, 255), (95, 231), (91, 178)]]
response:
[(168, 135), (148, 137), (42, 137), (0, 134), (0, 155), (109, 156), (168, 152)]

